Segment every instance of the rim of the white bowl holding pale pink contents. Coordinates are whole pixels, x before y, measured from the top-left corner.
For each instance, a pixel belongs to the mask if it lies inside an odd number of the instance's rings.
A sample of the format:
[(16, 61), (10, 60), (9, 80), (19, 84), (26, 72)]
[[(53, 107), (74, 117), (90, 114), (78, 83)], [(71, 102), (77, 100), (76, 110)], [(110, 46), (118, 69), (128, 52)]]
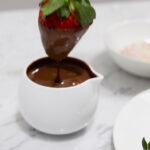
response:
[(122, 26), (125, 26), (125, 25), (129, 25), (129, 24), (135, 24), (135, 23), (137, 23), (137, 24), (149, 24), (150, 25), (150, 19), (149, 20), (142, 20), (142, 19), (125, 20), (125, 21), (113, 24), (105, 32), (105, 35), (104, 35), (105, 45), (107, 46), (108, 51), (115, 53), (116, 55), (118, 55), (118, 57), (122, 57), (124, 59), (128, 59), (129, 61), (132, 61), (132, 62), (135, 62), (135, 63), (140, 63), (140, 64), (144, 64), (144, 65), (150, 65), (150, 62), (148, 62), (148, 61), (141, 61), (141, 60), (138, 60), (136, 58), (132, 58), (132, 57), (129, 57), (129, 56), (126, 56), (126, 55), (122, 55), (122, 54), (119, 53), (119, 51), (116, 51), (115, 49), (110, 47), (110, 44), (108, 44), (109, 43), (108, 36), (109, 36), (109, 33), (111, 31), (113, 31), (113, 30), (115, 30), (115, 29), (117, 29), (119, 27), (122, 27)]

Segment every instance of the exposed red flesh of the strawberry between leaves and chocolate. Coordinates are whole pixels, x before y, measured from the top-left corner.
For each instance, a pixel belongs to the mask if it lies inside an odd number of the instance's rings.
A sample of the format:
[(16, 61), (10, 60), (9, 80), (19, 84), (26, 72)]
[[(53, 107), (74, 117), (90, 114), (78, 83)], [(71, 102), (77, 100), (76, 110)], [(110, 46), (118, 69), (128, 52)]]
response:
[[(41, 7), (43, 7), (46, 3), (47, 2), (43, 2)], [(72, 29), (80, 26), (77, 17), (73, 12), (70, 13), (68, 18), (63, 18), (62, 20), (57, 16), (56, 12), (43, 19), (42, 11), (40, 10), (39, 21), (49, 28)]]

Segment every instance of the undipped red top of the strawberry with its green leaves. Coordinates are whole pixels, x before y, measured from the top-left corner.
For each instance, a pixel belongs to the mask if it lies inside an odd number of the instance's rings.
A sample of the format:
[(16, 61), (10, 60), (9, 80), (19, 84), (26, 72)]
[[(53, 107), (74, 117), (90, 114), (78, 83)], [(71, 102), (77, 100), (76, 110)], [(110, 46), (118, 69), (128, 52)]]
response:
[(89, 0), (43, 0), (39, 12), (43, 25), (58, 29), (87, 27), (95, 17)]

